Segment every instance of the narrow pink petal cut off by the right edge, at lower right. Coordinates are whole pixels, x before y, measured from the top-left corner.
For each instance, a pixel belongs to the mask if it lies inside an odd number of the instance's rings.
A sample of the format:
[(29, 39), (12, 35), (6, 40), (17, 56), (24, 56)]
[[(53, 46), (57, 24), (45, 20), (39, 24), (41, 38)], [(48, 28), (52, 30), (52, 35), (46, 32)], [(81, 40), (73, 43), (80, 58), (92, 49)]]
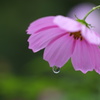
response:
[(95, 71), (100, 74), (100, 48), (94, 46)]

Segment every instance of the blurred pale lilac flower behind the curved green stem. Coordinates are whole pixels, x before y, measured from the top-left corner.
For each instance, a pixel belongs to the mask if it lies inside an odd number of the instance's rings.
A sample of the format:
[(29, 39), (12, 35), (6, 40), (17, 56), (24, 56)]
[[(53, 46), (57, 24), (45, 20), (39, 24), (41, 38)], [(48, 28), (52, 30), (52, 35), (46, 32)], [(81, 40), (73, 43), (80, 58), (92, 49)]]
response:
[[(72, 10), (70, 10), (67, 16), (71, 17), (72, 19), (76, 19), (75, 18), (76, 15), (79, 19), (83, 19), (84, 15), (93, 7), (95, 7), (95, 5), (92, 3), (78, 4), (75, 7), (73, 7)], [(100, 20), (100, 10), (95, 10), (87, 17), (86, 22), (93, 26), (92, 29), (94, 31), (100, 33), (99, 20)]]

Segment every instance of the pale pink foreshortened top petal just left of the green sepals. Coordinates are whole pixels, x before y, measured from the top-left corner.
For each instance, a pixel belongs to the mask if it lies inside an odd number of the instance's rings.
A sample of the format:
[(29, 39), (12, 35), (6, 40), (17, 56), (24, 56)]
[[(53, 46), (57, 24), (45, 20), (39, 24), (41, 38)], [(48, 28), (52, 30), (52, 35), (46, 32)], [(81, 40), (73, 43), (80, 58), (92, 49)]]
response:
[(54, 23), (58, 25), (60, 28), (69, 31), (69, 32), (75, 32), (81, 30), (81, 24), (78, 23), (75, 20), (72, 20), (68, 17), (64, 16), (56, 16), (54, 18)]

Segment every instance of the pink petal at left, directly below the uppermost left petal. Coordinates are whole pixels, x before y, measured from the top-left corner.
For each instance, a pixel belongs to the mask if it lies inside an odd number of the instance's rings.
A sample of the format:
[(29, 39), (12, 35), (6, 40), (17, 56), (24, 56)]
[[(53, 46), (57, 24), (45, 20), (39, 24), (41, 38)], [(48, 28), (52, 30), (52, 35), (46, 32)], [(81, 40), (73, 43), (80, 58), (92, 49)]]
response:
[(52, 39), (65, 33), (66, 31), (62, 29), (52, 28), (38, 32), (37, 34), (32, 34), (28, 39), (29, 48), (32, 49), (34, 52), (37, 52), (45, 48)]

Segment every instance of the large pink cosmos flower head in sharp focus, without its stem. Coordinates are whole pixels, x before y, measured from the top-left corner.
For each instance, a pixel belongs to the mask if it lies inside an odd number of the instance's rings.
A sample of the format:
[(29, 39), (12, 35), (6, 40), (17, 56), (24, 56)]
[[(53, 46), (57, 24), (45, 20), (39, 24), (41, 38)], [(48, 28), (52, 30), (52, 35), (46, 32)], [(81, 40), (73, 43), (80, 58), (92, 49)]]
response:
[(44, 49), (44, 60), (61, 68), (71, 58), (75, 70), (100, 73), (100, 36), (73, 19), (58, 16), (40, 18), (27, 29), (29, 49)]

